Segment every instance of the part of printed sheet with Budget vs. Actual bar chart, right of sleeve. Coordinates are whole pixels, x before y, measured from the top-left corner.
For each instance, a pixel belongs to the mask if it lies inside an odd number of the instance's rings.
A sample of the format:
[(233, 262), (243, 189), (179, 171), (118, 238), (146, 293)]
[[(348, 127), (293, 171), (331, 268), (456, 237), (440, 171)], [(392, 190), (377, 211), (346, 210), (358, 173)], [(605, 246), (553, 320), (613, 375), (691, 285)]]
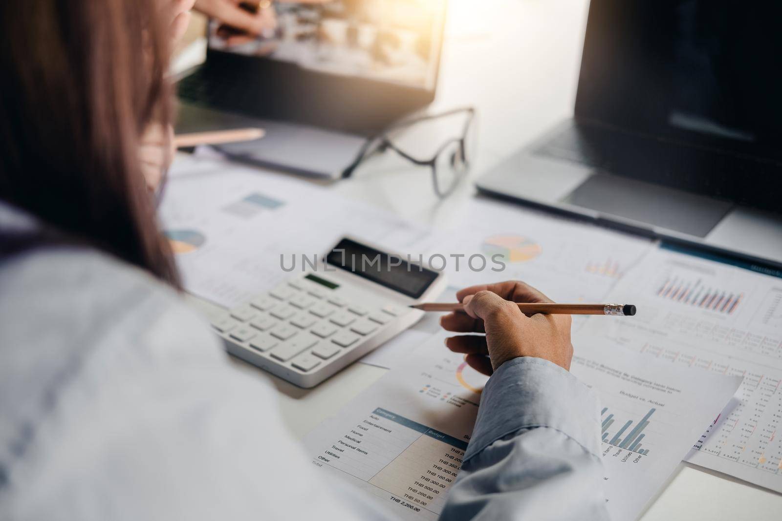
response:
[(576, 345), (570, 370), (600, 397), (604, 488), (612, 519), (640, 515), (691, 452), (690, 441), (741, 384), (741, 376), (693, 377), (610, 344), (583, 341)]

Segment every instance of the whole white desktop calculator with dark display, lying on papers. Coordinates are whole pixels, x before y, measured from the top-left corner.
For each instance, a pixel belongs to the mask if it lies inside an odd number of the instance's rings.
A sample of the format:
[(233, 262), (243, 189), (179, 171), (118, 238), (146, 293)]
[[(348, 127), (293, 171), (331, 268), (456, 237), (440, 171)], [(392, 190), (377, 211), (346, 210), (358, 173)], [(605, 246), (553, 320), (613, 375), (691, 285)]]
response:
[(443, 273), (350, 237), (313, 264), (212, 322), (232, 355), (300, 387), (411, 327), (424, 312), (408, 306), (446, 286)]

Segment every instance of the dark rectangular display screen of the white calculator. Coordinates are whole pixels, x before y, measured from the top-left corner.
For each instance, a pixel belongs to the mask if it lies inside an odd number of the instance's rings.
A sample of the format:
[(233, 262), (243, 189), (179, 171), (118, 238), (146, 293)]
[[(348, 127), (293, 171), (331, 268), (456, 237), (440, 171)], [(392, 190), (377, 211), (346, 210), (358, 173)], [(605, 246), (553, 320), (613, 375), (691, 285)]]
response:
[(437, 272), (432, 269), (350, 239), (339, 241), (326, 255), (326, 262), (411, 298), (424, 294), (437, 278)]

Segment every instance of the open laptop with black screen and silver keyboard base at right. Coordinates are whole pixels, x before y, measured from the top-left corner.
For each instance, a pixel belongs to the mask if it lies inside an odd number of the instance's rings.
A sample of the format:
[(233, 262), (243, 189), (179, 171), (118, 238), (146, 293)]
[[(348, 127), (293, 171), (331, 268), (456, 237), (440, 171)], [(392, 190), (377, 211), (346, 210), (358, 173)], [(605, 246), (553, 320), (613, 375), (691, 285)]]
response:
[(592, 0), (573, 117), (479, 191), (782, 267), (780, 15)]

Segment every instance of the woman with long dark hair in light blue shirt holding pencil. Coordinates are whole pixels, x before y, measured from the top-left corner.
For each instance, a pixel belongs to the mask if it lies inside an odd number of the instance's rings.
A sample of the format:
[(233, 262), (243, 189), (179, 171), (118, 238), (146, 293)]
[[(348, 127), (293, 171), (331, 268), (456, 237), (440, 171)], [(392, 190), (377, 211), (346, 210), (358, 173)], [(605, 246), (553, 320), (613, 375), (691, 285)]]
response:
[[(139, 144), (188, 5), (157, 7), (0, 2), (0, 519), (382, 519), (181, 302)], [(493, 376), (443, 518), (607, 517), (569, 318), (522, 316), (521, 283), (459, 298), (443, 326), (486, 337), (448, 347)]]

